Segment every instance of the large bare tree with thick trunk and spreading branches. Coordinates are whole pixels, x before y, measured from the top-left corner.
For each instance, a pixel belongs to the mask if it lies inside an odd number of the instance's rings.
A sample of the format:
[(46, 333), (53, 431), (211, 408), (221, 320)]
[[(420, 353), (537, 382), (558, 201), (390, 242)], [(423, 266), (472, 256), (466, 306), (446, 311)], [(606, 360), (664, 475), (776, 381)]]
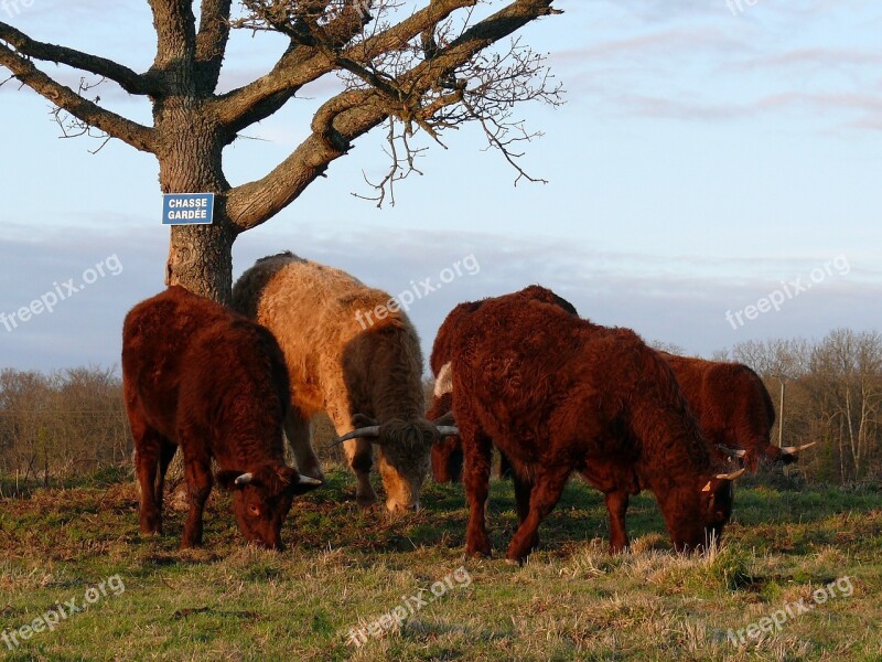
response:
[[(392, 157), (377, 186), (377, 202), (415, 168), (410, 138), (421, 130), (440, 140), (466, 121), (518, 166), (518, 145), (533, 135), (513, 118), (520, 102), (556, 104), (560, 88), (541, 56), (513, 40), (492, 49), (529, 22), (560, 13), (553, 0), (149, 0), (157, 32), (152, 66), (137, 73), (123, 64), (43, 43), (0, 22), (0, 66), (56, 107), (67, 135), (97, 132), (150, 152), (159, 161), (164, 193), (214, 192), (211, 226), (171, 232), (166, 282), (228, 301), (233, 243), (271, 218), (361, 136), (388, 125)], [(476, 6), (502, 7), (483, 19)], [(495, 9), (495, 8), (494, 8)], [(288, 39), (278, 62), (251, 83), (217, 94), (233, 29)], [(60, 63), (148, 97), (153, 124), (143, 126), (89, 98), (90, 84), (74, 92), (36, 61)], [(341, 76), (343, 92), (324, 102), (309, 137), (265, 177), (230, 186), (222, 152), (241, 131), (278, 111), (309, 83)]]

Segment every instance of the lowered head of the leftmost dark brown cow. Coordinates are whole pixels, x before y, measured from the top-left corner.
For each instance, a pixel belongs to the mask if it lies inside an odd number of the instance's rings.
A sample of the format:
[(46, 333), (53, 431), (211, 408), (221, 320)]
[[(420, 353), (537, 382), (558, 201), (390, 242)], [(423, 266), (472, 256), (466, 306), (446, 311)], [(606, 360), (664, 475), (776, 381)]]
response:
[(314, 490), (322, 481), (295, 469), (265, 465), (254, 472), (225, 470), (217, 482), (233, 492), (233, 512), (239, 531), (251, 543), (281, 549), (281, 530), (294, 495)]

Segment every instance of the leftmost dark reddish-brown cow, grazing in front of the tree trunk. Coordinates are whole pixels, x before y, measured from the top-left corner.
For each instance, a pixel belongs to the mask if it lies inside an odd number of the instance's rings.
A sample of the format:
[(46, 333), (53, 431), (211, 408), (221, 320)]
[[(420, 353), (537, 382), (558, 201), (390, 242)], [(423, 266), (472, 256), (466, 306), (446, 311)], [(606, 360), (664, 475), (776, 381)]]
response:
[(135, 438), (143, 533), (162, 531), (165, 470), (184, 453), (190, 512), (182, 547), (202, 544), (202, 513), (217, 481), (233, 490), (239, 530), (281, 547), (294, 494), (321, 481), (284, 463), (290, 402), (281, 350), (263, 327), (182, 287), (142, 301), (122, 330), (122, 383)]

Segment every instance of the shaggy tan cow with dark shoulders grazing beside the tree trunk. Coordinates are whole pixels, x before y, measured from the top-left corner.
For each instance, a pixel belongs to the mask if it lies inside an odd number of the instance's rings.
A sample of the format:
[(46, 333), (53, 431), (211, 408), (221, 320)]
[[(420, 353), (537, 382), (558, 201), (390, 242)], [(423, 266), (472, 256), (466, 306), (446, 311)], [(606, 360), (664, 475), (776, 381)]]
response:
[[(233, 288), (234, 307), (279, 340), (292, 385), (286, 433), (298, 468), (321, 477), (310, 419), (326, 412), (338, 435), (377, 425), (389, 510), (416, 509), (437, 428), (426, 420), (419, 338), (383, 290), (291, 253), (259, 259)], [(383, 316), (377, 316), (377, 310)], [(376, 501), (372, 441), (345, 442), (361, 505)]]

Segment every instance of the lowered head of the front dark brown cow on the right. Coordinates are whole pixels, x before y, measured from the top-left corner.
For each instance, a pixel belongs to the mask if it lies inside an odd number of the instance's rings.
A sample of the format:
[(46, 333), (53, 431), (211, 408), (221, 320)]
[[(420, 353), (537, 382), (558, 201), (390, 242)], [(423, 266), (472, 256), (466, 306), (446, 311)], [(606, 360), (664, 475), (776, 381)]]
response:
[(700, 477), (656, 491), (677, 552), (701, 552), (720, 543), (732, 516), (733, 481), (744, 471)]

